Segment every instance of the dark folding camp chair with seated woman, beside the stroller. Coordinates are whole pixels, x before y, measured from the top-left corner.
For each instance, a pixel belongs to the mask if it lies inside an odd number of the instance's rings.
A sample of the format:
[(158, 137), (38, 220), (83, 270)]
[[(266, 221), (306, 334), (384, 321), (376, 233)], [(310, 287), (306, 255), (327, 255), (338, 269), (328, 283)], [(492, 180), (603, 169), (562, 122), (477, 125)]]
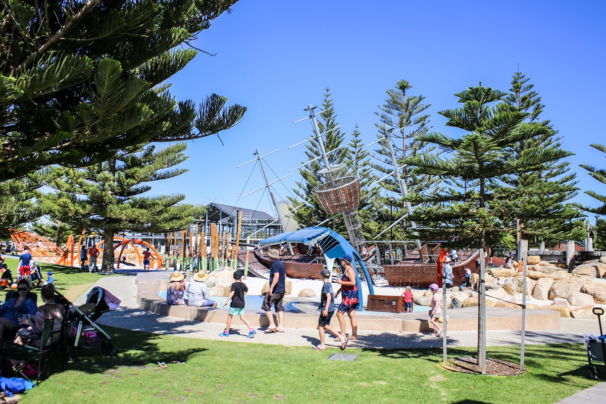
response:
[[(12, 360), (12, 362), (9, 363), (12, 366), (13, 371), (19, 373), (24, 379), (30, 380), (24, 373), (25, 366), (35, 365), (37, 362), (38, 377), (36, 379), (36, 385), (38, 385), (42, 379), (42, 369), (44, 369), (44, 366), (47, 368), (47, 376), (50, 376), (50, 361), (48, 360), (48, 354), (52, 349), (52, 345), (48, 343), (48, 339), (53, 331), (54, 325), (54, 318), (45, 319), (40, 339), (30, 340), (28, 342), (30, 345), (2, 342), (2, 355), (4, 356), (4, 360)], [(39, 342), (37, 346), (32, 345), (36, 342)]]

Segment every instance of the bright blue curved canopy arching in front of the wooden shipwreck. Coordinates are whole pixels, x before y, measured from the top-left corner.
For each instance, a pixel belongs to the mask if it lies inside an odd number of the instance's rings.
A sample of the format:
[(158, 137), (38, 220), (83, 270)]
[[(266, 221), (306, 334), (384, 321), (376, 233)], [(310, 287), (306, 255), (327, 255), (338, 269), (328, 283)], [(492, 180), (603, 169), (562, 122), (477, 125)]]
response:
[[(314, 226), (301, 230), (290, 231), (288, 233), (277, 234), (276, 236), (268, 237), (267, 239), (259, 241), (259, 245), (273, 245), (279, 243), (303, 243), (305, 245), (318, 243), (320, 248), (322, 248), (322, 252), (324, 253), (327, 268), (332, 268), (333, 263), (339, 257), (342, 257), (345, 254), (350, 254), (354, 260), (351, 265), (353, 265), (354, 273), (356, 274), (356, 285), (358, 285), (358, 300), (360, 302), (358, 305), (358, 311), (362, 311), (363, 299), (362, 285), (360, 283), (358, 271), (356, 270), (356, 263), (362, 268), (362, 272), (364, 273), (364, 277), (368, 283), (368, 292), (370, 294), (375, 294), (375, 289), (373, 288), (370, 274), (368, 273), (366, 265), (364, 265), (364, 261), (359, 256), (358, 251), (356, 251), (355, 248), (353, 248), (351, 244), (336, 231), (330, 230), (326, 227)], [(344, 274), (345, 268), (342, 267), (341, 260), (337, 260), (337, 263), (339, 268), (341, 268), (341, 273)]]

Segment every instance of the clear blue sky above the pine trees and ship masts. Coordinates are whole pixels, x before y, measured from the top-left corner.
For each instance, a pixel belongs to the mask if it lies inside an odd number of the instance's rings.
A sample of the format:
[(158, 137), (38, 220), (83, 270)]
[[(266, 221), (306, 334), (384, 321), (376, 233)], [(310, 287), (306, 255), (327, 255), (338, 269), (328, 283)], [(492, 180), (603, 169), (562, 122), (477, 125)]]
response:
[[(225, 145), (217, 136), (190, 143), (183, 165), (190, 171), (153, 184), (153, 192), (236, 204), (264, 184), (254, 164), (236, 169), (254, 158), (255, 148), (279, 149), (265, 162), (270, 180), (284, 176), (305, 160), (304, 146), (288, 147), (311, 133), (307, 121), (293, 122), (306, 116), (308, 104), (321, 104), (326, 87), (342, 130), (348, 136), (358, 124), (365, 144), (375, 140), (377, 105), (401, 79), (431, 104), (433, 130), (453, 134), (436, 113), (456, 107), (453, 94), (478, 82), (507, 91), (519, 65), (545, 104), (542, 119), (551, 119), (563, 147), (575, 153), (569, 161), (581, 188), (576, 200), (597, 205), (582, 190), (606, 190), (578, 164), (606, 168), (604, 154), (589, 146), (606, 143), (605, 4), (242, 0), (195, 42), (216, 56), (200, 53), (173, 76), (171, 91), (195, 101), (227, 96), (248, 108), (244, 120), (220, 134)], [(279, 199), (295, 179), (276, 185)], [(259, 191), (238, 205), (265, 210), (270, 201)]]

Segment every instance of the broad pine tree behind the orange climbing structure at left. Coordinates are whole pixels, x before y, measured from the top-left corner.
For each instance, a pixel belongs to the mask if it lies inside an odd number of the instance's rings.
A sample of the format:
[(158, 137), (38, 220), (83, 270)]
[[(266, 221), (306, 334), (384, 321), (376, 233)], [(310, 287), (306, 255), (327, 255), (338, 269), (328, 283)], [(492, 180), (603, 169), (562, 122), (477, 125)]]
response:
[(102, 164), (78, 170), (55, 168), (55, 194), (40, 198), (54, 220), (91, 231), (105, 239), (102, 271), (113, 270), (113, 240), (124, 230), (163, 233), (187, 228), (201, 208), (179, 204), (183, 194), (150, 196), (150, 183), (186, 170), (173, 168), (187, 157), (182, 142), (156, 150), (153, 145), (119, 151)]

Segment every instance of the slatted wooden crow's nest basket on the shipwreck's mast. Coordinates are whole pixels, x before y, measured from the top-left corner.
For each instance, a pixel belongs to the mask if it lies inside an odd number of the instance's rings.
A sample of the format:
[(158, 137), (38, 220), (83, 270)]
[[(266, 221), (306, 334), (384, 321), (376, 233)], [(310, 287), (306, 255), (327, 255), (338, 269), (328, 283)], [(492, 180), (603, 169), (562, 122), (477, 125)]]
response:
[(319, 185), (316, 194), (328, 213), (351, 212), (360, 204), (360, 180), (358, 177), (336, 178)]

